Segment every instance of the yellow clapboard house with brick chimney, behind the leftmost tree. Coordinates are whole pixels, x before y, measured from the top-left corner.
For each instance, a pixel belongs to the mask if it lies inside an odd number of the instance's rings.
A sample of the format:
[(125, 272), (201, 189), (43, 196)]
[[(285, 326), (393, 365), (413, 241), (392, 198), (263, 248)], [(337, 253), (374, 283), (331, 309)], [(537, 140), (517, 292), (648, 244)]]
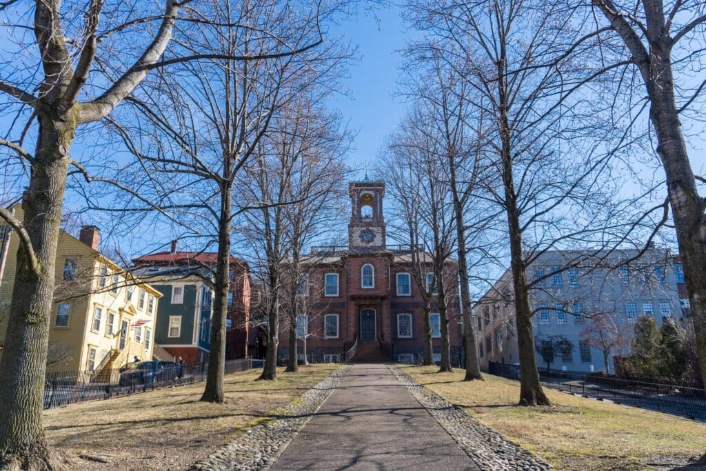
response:
[[(21, 206), (12, 209), (21, 220)], [(47, 371), (89, 371), (98, 376), (135, 359), (152, 359), (162, 294), (102, 255), (99, 241), (95, 226), (83, 226), (78, 238), (64, 230), (59, 234)], [(11, 315), (20, 241), (4, 226), (0, 242), (1, 347)]]

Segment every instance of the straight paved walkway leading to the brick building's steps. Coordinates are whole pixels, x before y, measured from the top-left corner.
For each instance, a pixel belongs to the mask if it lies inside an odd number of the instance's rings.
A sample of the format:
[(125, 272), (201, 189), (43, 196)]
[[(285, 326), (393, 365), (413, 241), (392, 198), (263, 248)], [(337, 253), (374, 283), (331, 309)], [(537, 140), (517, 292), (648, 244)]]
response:
[(477, 470), (383, 364), (354, 364), (273, 470)]

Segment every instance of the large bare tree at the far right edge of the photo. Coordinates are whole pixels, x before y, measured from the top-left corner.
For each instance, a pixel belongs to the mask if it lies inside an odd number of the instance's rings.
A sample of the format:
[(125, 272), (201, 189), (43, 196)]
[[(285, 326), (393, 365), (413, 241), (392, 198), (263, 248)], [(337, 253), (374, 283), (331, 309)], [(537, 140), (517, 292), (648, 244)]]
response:
[[(683, 119), (700, 119), (706, 81), (693, 81), (703, 65), (706, 31), (702, 1), (593, 0), (593, 35), (600, 38), (601, 62), (610, 68), (630, 122), (649, 112), (651, 131), (666, 175), (674, 227), (696, 333), (700, 376), (706, 378), (706, 201), (699, 195), (682, 129)], [(597, 54), (598, 56), (598, 54)], [(637, 80), (631, 74), (637, 75)], [(642, 82), (642, 87), (638, 82)], [(638, 95), (633, 102), (633, 90)], [(638, 91), (642, 88), (642, 91)], [(644, 98), (642, 96), (647, 94)]]

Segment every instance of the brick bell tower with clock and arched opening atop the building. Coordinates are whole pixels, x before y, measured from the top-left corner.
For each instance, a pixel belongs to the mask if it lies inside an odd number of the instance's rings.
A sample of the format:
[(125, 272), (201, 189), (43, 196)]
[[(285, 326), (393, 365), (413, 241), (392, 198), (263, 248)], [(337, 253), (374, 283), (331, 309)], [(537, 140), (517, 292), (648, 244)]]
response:
[(352, 181), (348, 184), (348, 194), (351, 198), (348, 246), (355, 250), (384, 250), (383, 196), (385, 196), (385, 183), (370, 181), (368, 174), (366, 174), (363, 181)]

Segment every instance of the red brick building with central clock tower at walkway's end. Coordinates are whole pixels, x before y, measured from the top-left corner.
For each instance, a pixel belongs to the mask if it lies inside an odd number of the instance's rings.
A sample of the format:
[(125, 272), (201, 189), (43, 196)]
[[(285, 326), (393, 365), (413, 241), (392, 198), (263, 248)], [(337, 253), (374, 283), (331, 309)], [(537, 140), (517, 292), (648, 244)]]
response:
[[(358, 359), (393, 359), (411, 362), (419, 358), (424, 342), (424, 302), (415, 280), (433, 282), (431, 256), (412, 264), (409, 247), (386, 244), (383, 217), (383, 182), (349, 184), (351, 217), (348, 246), (312, 247), (299, 287), (297, 317), (298, 351), (310, 362), (340, 362), (358, 341)], [(415, 277), (414, 273), (421, 273)], [(459, 362), (461, 347), (457, 299), (457, 264), (448, 262), (449, 336), (452, 362)], [(424, 287), (424, 286), (423, 286)], [(431, 299), (433, 349), (441, 352), (438, 299)], [(280, 321), (280, 360), (287, 358), (288, 313)]]

